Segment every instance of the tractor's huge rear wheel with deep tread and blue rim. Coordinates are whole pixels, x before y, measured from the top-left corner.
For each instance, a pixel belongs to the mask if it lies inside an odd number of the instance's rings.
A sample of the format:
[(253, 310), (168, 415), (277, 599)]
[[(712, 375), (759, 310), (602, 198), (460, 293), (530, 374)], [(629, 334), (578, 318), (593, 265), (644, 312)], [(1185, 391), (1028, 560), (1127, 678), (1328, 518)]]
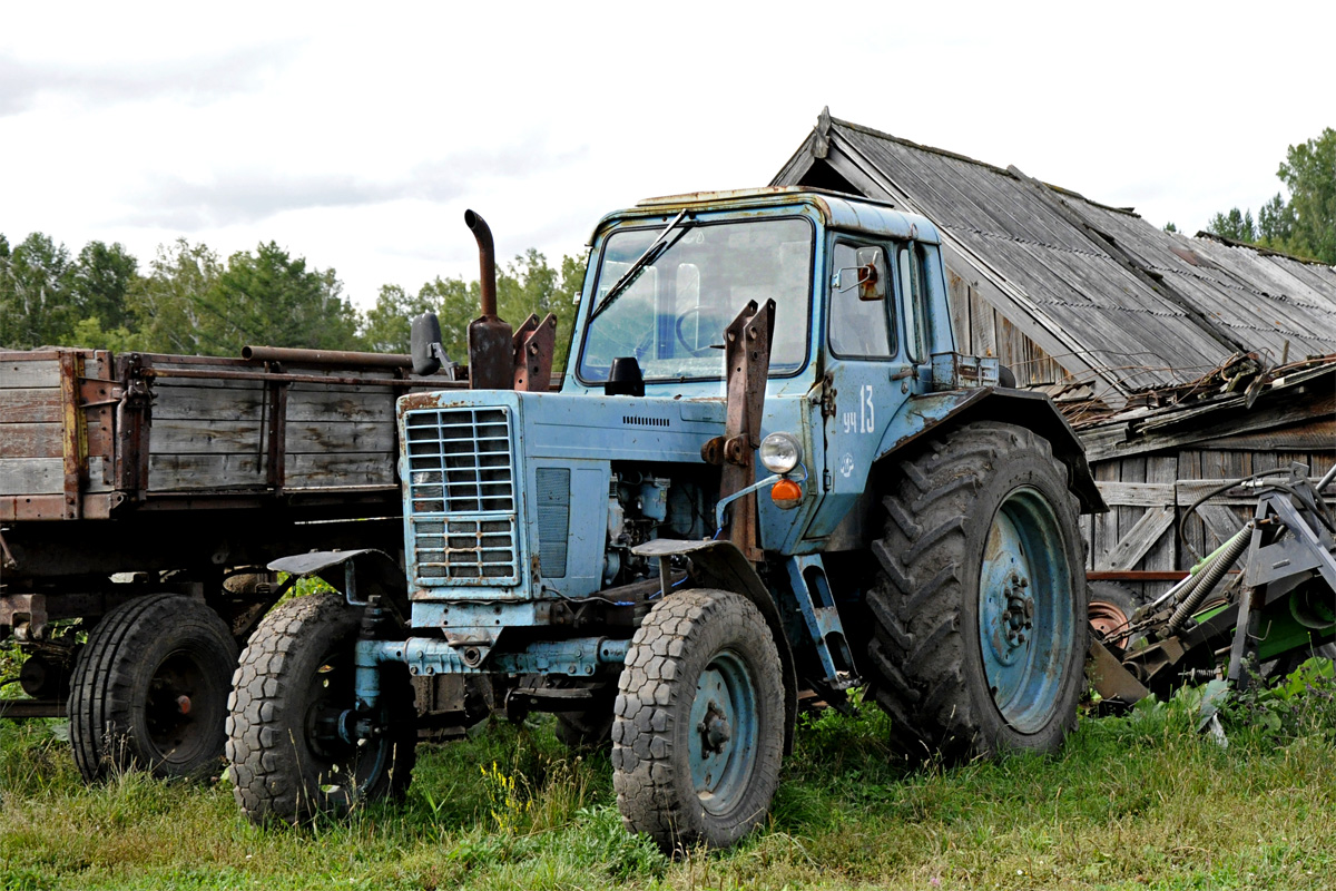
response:
[(1003, 423), (902, 464), (872, 544), (868, 668), (910, 760), (1051, 752), (1075, 727), (1086, 598), (1075, 500), (1047, 441)]

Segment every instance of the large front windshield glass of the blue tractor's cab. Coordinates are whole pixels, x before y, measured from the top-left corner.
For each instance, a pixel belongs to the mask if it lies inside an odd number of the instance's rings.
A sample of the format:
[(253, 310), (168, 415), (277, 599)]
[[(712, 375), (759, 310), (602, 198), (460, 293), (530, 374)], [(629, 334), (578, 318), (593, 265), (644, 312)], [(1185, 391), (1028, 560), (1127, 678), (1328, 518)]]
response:
[[(591, 306), (645, 254), (663, 226), (613, 232), (603, 247)], [(580, 379), (608, 379), (612, 361), (633, 355), (645, 381), (720, 378), (724, 329), (748, 301), (775, 301), (770, 373), (807, 358), (812, 224), (806, 219), (697, 223), (623, 286), (585, 331)]]

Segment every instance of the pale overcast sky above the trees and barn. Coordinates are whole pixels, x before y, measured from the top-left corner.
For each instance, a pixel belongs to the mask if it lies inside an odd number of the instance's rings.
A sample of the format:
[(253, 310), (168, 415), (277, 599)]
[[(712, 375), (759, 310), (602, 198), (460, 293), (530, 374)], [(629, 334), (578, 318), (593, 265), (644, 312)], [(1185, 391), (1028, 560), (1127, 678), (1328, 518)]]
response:
[(607, 211), (767, 183), (823, 106), (1157, 226), (1336, 127), (1324, 4), (7, 4), (0, 232), (147, 266), (277, 240), (369, 306), (556, 264)]

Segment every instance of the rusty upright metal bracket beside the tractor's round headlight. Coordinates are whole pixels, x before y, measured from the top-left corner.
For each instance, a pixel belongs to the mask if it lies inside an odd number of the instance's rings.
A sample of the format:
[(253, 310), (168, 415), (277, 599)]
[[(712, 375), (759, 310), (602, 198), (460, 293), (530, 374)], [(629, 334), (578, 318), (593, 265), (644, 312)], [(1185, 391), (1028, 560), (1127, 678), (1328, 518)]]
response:
[[(749, 302), (724, 329), (728, 401), (721, 449), (724, 464), (719, 484), (721, 498), (756, 480), (755, 456), (760, 448), (760, 419), (774, 333), (774, 301), (766, 301), (766, 306), (760, 309), (755, 301)], [(762, 560), (755, 493), (739, 498), (729, 508), (728, 537), (748, 560)]]

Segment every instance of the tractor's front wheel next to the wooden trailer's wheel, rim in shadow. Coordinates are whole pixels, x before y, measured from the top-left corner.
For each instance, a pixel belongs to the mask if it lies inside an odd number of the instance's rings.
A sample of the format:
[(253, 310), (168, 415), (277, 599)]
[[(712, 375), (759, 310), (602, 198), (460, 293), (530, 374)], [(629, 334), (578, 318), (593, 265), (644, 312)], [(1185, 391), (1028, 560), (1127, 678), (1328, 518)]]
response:
[(417, 711), (407, 667), (381, 669), (379, 736), (350, 743), (361, 610), (339, 594), (273, 609), (242, 652), (227, 717), (236, 803), (254, 823), (342, 816), (359, 801), (402, 796), (413, 771)]

